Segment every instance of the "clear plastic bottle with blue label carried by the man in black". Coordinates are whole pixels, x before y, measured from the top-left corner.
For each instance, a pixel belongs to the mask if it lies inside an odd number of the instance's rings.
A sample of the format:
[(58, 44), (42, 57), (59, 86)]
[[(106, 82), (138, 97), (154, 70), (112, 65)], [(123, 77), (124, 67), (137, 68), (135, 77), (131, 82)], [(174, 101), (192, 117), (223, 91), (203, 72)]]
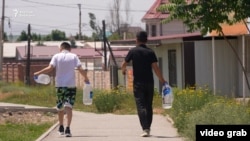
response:
[(173, 91), (168, 83), (165, 83), (162, 87), (162, 107), (164, 109), (170, 109), (173, 103)]

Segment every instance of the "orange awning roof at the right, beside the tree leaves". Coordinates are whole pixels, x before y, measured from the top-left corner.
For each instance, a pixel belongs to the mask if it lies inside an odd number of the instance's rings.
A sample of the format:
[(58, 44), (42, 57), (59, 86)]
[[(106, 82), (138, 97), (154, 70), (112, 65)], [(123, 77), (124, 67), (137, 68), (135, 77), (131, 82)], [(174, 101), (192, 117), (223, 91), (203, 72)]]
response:
[[(221, 24), (222, 31), (226, 36), (237, 36), (249, 34), (246, 25), (243, 22), (236, 23), (234, 25)], [(208, 33), (207, 36), (220, 36), (217, 31)]]

